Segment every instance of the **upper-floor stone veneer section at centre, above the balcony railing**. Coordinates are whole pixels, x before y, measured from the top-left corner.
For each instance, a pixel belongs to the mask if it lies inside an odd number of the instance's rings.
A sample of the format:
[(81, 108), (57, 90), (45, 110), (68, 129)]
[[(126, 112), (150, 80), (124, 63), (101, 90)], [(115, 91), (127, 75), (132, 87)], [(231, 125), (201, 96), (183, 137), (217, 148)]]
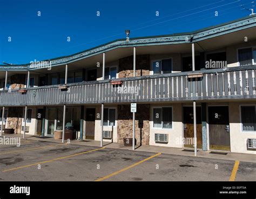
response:
[[(149, 54), (138, 54), (136, 56), (136, 77), (149, 76), (150, 56)], [(133, 77), (133, 56), (119, 59), (119, 78)]]

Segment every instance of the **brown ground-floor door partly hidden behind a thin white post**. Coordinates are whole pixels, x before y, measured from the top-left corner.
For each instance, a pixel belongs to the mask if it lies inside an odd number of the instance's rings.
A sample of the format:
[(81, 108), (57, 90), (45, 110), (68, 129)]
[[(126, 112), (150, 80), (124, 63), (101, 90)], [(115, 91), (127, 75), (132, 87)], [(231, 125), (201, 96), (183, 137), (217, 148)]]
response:
[[(197, 106), (197, 147), (202, 148), (202, 120), (201, 107)], [(184, 123), (184, 147), (194, 147), (194, 115), (193, 107), (183, 107), (183, 123)]]

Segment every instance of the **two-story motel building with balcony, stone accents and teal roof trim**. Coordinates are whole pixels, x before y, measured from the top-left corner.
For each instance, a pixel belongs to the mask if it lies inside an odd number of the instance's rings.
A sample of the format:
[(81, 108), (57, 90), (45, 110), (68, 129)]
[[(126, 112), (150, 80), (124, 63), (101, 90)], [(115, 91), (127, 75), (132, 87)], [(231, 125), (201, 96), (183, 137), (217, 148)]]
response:
[(72, 125), (78, 139), (104, 132), (103, 141), (123, 143), (137, 102), (138, 146), (192, 147), (195, 101), (199, 149), (256, 154), (255, 15), (47, 61), (1, 65), (2, 129), (53, 136)]

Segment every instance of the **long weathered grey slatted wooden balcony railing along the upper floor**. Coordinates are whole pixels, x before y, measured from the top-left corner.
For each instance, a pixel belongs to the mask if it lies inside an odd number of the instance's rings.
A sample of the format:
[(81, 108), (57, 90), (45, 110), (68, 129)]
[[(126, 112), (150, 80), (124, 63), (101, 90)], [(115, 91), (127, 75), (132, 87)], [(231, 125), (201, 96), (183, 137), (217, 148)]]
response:
[(256, 98), (256, 65), (0, 92), (2, 106)]

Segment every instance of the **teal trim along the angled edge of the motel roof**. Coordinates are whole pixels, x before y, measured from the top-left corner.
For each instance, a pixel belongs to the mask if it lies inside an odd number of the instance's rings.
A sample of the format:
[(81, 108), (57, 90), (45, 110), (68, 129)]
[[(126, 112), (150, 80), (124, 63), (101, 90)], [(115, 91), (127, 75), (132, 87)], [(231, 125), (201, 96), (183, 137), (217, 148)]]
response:
[[(112, 42), (105, 43), (91, 49), (87, 49), (82, 52), (71, 54), (70, 56), (63, 56), (58, 58), (53, 58), (51, 61), (51, 67), (69, 64), (74, 61), (85, 59), (87, 57), (95, 56), (97, 54), (114, 50), (120, 47), (136, 47), (136, 46), (149, 46), (149, 45), (167, 45), (167, 44), (185, 44), (199, 42), (200, 40), (205, 40), (213, 37), (218, 37), (220, 35), (225, 35), (227, 33), (244, 30), (256, 26), (256, 15), (240, 18), (233, 20), (232, 22), (227, 22), (224, 24), (219, 24), (216, 26), (210, 26), (204, 29), (200, 29), (192, 32), (175, 33), (172, 35), (160, 35), (160, 36), (148, 36), (148, 37), (137, 37), (130, 38), (130, 42), (126, 42), (126, 39), (116, 39)], [(24, 70), (37, 70), (39, 68), (32, 68), (30, 64), (21, 65), (0, 65), (0, 71), (24, 71)]]

